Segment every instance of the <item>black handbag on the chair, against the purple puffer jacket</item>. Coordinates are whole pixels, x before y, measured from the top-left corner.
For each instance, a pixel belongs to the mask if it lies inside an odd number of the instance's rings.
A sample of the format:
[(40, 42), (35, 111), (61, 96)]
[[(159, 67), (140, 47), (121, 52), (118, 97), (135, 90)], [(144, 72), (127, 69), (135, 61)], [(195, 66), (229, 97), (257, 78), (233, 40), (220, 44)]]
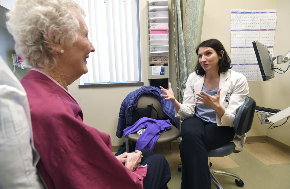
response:
[[(152, 109), (154, 109), (157, 112), (157, 110), (153, 107), (153, 104), (151, 105), (148, 104), (146, 108), (137, 108), (133, 104), (131, 104), (131, 106), (129, 106), (128, 108), (128, 112), (126, 115), (126, 125), (132, 126), (142, 117), (150, 118)], [(159, 119), (158, 112), (157, 119)]]

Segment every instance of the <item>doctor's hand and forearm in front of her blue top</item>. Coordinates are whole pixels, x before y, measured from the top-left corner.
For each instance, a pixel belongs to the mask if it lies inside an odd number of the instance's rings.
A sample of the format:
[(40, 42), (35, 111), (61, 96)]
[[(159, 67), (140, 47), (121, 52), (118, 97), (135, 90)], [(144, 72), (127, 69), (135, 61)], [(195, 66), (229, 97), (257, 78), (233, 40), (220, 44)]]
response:
[(195, 102), (195, 104), (203, 104), (214, 109), (217, 112), (218, 116), (221, 118), (224, 115), (225, 109), (220, 104), (220, 93), (221, 89), (218, 90), (215, 96), (211, 96), (208, 93), (201, 91), (200, 93), (197, 93), (198, 96), (195, 97), (201, 102)]

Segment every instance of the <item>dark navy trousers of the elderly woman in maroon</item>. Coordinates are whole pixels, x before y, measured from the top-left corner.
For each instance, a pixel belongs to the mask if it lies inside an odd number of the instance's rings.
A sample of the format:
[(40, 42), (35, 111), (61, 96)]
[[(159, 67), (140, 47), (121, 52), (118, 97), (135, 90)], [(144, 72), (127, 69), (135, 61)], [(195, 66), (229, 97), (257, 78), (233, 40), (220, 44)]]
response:
[(142, 149), (140, 165), (147, 164), (147, 174), (143, 180), (144, 189), (168, 189), (171, 172), (167, 160), (161, 154), (154, 154), (150, 149)]

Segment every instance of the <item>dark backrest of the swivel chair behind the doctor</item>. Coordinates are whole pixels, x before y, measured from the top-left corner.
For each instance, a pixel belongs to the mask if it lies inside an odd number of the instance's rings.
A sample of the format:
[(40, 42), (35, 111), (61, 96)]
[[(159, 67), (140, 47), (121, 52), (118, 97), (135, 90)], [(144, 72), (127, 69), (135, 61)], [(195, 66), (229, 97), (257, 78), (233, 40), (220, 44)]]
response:
[(251, 129), (255, 108), (255, 100), (247, 96), (245, 102), (237, 110), (234, 121), (234, 129), (237, 135), (242, 136)]

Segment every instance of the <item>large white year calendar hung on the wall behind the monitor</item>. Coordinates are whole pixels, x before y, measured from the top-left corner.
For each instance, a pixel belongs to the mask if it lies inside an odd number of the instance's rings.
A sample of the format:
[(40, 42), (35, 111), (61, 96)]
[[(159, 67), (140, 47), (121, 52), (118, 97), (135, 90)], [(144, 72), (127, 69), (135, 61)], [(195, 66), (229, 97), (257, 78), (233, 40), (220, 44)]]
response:
[(252, 42), (267, 45), (272, 53), (276, 22), (276, 10), (231, 10), (231, 66), (248, 81), (263, 80)]

